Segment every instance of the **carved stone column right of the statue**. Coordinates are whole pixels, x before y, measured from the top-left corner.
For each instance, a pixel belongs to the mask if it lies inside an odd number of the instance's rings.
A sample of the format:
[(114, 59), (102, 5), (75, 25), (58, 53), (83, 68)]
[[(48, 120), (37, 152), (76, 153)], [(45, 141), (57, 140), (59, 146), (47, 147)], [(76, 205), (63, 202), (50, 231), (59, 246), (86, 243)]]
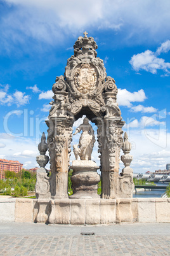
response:
[(101, 197), (112, 199), (117, 197), (119, 190), (119, 157), (122, 144), (121, 117), (104, 118), (104, 131), (102, 139), (102, 193)]

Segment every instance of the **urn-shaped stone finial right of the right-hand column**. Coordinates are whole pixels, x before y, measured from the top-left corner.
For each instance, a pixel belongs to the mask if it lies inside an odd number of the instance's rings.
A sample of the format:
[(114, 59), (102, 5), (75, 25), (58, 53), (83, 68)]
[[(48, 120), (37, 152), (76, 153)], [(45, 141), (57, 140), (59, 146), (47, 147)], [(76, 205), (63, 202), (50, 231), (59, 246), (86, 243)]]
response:
[(133, 169), (130, 166), (133, 156), (129, 154), (131, 151), (131, 143), (128, 141), (128, 134), (124, 132), (124, 142), (122, 143), (122, 151), (124, 155), (121, 156), (121, 160), (124, 163), (124, 169), (122, 173), (133, 173)]

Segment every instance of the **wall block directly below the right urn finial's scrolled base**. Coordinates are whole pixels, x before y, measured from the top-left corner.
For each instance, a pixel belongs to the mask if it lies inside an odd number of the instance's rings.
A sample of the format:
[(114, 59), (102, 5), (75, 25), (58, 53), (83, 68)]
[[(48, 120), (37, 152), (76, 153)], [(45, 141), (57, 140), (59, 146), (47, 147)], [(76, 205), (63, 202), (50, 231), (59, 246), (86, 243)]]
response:
[(133, 213), (131, 210), (131, 199), (116, 200), (116, 222), (132, 222)]

